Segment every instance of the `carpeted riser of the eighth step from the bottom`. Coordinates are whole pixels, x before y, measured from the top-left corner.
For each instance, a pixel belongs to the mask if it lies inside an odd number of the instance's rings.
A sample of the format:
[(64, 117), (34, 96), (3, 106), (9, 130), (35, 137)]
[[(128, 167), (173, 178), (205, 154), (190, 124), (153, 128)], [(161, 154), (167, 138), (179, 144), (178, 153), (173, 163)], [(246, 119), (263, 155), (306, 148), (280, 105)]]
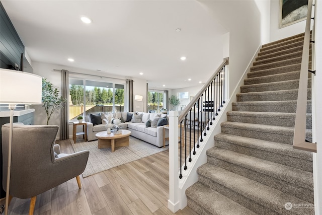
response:
[[(297, 90), (283, 91), (283, 92), (271, 92), (271, 93), (259, 93), (248, 94), (241, 93), (236, 95), (237, 102), (249, 102), (249, 101), (292, 101), (297, 100)], [(307, 99), (311, 99), (311, 89), (308, 89)]]

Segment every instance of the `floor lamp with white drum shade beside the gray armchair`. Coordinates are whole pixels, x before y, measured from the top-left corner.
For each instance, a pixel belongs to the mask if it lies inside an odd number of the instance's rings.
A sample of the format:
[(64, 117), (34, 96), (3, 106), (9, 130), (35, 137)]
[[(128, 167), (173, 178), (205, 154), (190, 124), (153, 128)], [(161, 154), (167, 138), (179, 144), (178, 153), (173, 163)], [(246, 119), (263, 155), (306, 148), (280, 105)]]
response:
[(42, 78), (40, 76), (24, 73), (23, 71), (0, 68), (0, 104), (10, 109), (10, 132), (8, 150), (8, 172), (6, 188), (5, 214), (8, 214), (10, 173), (11, 173), (11, 150), (13, 138), (14, 109), (17, 104), (41, 104)]

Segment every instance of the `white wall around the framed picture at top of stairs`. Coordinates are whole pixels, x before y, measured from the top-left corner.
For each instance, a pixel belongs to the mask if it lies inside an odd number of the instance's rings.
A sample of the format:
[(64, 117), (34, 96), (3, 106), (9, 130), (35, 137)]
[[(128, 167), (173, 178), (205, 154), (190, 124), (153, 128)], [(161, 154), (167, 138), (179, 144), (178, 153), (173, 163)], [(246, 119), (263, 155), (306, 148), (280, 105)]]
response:
[(271, 0), (271, 42), (303, 33), (305, 30), (305, 20), (279, 29), (279, 2), (279, 0)]

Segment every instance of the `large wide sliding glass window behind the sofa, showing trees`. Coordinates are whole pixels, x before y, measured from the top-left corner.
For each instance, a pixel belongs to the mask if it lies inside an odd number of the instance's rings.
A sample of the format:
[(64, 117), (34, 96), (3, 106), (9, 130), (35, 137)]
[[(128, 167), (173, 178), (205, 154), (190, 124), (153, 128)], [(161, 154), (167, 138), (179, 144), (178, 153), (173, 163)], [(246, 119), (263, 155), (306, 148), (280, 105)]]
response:
[(124, 111), (124, 88), (125, 84), (69, 78), (69, 120), (90, 113)]

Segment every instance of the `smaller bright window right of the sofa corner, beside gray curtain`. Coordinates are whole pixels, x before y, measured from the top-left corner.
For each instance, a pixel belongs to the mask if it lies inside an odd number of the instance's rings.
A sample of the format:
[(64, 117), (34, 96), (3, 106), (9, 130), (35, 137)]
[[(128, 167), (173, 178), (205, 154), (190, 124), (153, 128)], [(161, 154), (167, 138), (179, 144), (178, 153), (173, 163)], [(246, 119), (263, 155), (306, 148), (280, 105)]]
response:
[(164, 91), (149, 90), (147, 92), (147, 111), (148, 112), (160, 112), (160, 109), (164, 107)]

